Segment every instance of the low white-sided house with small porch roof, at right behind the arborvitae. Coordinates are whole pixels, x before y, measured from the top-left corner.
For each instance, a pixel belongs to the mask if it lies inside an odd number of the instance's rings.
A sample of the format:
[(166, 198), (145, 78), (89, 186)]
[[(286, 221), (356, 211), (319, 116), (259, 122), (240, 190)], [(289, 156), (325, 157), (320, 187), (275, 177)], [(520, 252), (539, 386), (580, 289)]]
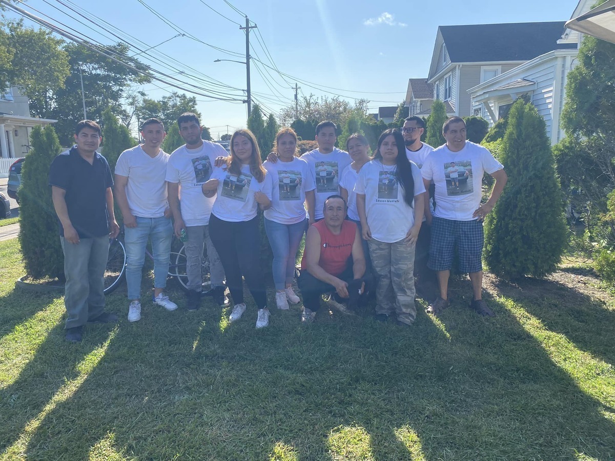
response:
[[(587, 12), (595, 0), (581, 0), (572, 17)], [(513, 101), (523, 94), (530, 97), (547, 125), (547, 135), (555, 144), (564, 136), (560, 125), (568, 72), (574, 68), (582, 35), (564, 29), (549, 50), (513, 69), (467, 90), (472, 112), (493, 125), (506, 116)]]

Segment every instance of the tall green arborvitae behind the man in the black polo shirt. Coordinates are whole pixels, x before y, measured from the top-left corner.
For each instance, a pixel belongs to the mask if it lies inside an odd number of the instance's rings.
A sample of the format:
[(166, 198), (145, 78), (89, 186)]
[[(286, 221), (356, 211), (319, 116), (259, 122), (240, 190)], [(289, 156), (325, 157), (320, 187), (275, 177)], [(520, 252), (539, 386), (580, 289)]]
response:
[(51, 125), (34, 127), (30, 152), (22, 169), (19, 242), (26, 274), (33, 278), (64, 279), (64, 255), (58, 234), (58, 220), (49, 187), (49, 167), (62, 151)]

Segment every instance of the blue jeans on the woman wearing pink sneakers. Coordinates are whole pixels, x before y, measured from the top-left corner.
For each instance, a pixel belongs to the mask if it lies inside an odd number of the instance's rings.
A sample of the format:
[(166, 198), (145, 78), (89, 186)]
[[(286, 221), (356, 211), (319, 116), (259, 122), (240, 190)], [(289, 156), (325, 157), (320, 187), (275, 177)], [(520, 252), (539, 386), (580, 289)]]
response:
[(308, 229), (308, 220), (296, 224), (280, 224), (265, 219), (265, 232), (273, 251), (273, 281), (276, 290), (284, 290), (295, 277), (295, 261), (301, 238)]

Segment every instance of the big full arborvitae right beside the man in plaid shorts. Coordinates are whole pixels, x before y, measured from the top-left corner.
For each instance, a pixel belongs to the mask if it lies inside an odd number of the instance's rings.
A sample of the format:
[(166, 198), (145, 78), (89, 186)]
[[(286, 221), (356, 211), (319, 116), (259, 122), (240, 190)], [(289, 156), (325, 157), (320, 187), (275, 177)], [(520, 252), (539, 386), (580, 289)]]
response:
[(563, 194), (544, 119), (522, 100), (508, 117), (500, 160), (509, 179), (485, 222), (485, 261), (509, 280), (542, 277), (557, 268), (566, 243)]

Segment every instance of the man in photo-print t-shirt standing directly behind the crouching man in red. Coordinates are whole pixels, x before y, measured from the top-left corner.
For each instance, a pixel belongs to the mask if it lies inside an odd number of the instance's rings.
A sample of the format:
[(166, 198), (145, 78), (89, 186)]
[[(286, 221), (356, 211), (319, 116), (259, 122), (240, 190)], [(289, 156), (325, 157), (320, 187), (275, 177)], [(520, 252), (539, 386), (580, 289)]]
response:
[[(337, 127), (333, 122), (320, 122), (316, 127), (318, 149), (301, 156), (308, 162), (309, 170), (316, 184), (314, 209), (308, 210), (309, 224), (323, 218), (322, 210), (330, 195), (339, 194), (339, 178), (342, 171), (352, 163), (348, 152), (335, 147)], [(277, 162), (277, 155), (271, 152), (267, 157), (271, 163)]]

